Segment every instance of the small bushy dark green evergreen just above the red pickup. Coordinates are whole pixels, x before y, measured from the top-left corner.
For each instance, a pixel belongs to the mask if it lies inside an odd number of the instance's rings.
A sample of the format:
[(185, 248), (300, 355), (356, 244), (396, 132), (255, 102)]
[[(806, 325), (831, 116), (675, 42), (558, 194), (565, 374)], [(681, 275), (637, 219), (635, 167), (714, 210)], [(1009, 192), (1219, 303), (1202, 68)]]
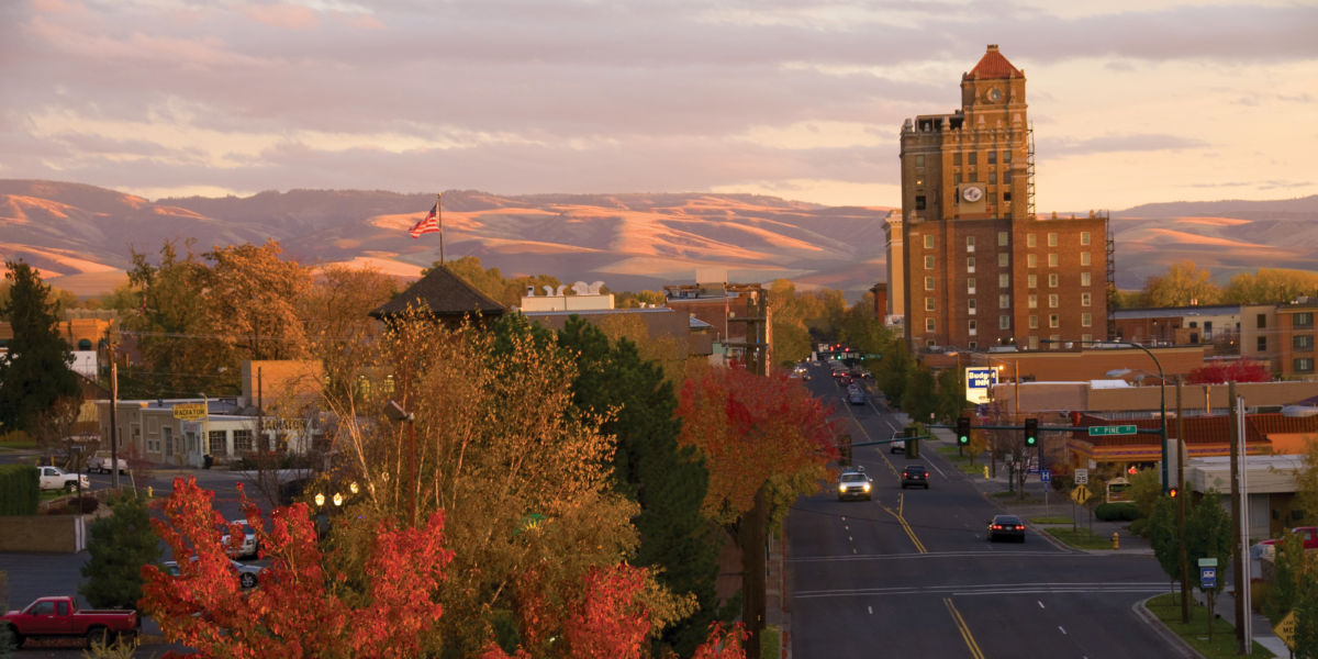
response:
[(127, 493), (111, 503), (115, 514), (91, 523), (86, 581), (78, 592), (99, 609), (133, 609), (142, 597), (142, 565), (161, 560), (145, 500)]

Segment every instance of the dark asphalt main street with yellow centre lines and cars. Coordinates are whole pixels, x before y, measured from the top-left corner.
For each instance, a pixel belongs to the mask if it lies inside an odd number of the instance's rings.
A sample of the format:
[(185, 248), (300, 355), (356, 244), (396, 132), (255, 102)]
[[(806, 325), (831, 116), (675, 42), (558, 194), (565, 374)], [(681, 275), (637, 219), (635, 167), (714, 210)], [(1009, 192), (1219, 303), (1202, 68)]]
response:
[[(853, 442), (903, 427), (875, 397), (849, 405), (828, 369), (812, 376)], [(886, 445), (857, 447), (853, 460), (875, 478), (873, 501), (840, 502), (825, 486), (787, 521), (793, 656), (1180, 655), (1133, 610), (1168, 589), (1152, 558), (1087, 554), (1033, 532), (988, 543), (985, 527), (1002, 510), (929, 443), (919, 460)], [(900, 488), (915, 461), (929, 467), (928, 490)]]

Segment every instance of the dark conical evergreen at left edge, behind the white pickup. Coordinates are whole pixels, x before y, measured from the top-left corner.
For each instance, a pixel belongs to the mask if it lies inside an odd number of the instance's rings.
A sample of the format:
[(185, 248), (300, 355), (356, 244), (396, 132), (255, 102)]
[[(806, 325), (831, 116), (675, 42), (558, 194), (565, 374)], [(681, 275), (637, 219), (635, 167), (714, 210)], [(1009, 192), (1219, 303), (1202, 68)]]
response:
[(30, 265), (7, 261), (9, 301), (0, 319), (13, 330), (9, 352), (0, 358), (0, 431), (33, 434), (41, 414), (57, 399), (80, 394), (69, 341), (59, 335), (58, 304), (50, 286)]

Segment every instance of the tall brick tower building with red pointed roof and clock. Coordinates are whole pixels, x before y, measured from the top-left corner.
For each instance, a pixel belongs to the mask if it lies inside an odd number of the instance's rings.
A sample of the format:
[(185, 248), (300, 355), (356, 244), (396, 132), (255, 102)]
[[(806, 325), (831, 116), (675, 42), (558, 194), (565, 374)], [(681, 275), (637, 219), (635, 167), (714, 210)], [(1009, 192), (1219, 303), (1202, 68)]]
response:
[(888, 312), (912, 349), (1107, 337), (1107, 217), (1037, 217), (1033, 178), (1025, 75), (990, 45), (961, 78), (961, 109), (902, 127)]

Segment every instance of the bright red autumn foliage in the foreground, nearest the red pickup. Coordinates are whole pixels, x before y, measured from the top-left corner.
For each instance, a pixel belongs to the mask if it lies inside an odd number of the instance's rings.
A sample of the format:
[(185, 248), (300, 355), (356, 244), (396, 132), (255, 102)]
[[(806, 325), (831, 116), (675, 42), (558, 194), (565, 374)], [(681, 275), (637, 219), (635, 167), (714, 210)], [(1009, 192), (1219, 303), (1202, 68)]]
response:
[(220, 543), (237, 525), (227, 525), (211, 506), (214, 493), (194, 478), (175, 478), (165, 501), (166, 521), (152, 519), (170, 546), (179, 576), (156, 565), (142, 568), (140, 608), (157, 619), (165, 637), (196, 648), (199, 656), (416, 656), (419, 637), (443, 610), (432, 594), (452, 552), (443, 548), (444, 518), (424, 527), (376, 527), (366, 559), (365, 597), (341, 588), (343, 573), (328, 575), (307, 506), (294, 503), (272, 514), (243, 497), (248, 523), (270, 565), (260, 588), (244, 592)]

